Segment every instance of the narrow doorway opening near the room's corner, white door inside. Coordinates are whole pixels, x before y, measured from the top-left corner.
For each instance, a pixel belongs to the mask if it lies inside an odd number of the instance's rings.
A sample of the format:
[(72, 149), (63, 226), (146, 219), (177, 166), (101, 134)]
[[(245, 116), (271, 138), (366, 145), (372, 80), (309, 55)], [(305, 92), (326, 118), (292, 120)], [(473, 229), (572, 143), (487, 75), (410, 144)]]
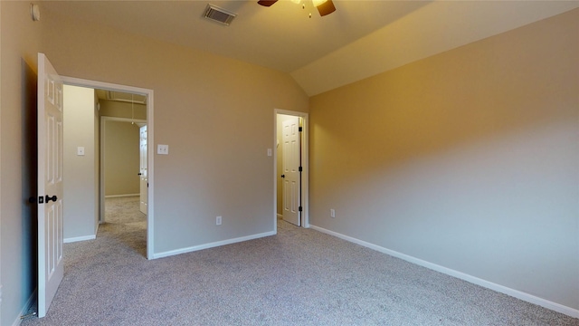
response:
[(274, 112), (274, 207), (278, 218), (309, 227), (308, 113)]

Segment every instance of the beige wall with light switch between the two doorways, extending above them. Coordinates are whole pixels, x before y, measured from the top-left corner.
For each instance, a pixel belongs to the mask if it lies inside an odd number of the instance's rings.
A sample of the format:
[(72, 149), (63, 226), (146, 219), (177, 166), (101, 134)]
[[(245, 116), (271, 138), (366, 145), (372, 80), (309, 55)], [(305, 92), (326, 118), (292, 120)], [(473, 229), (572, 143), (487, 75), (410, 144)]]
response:
[(50, 11), (42, 23), (62, 75), (155, 91), (155, 145), (169, 145), (154, 156), (155, 254), (275, 231), (274, 108), (308, 110), (288, 74)]

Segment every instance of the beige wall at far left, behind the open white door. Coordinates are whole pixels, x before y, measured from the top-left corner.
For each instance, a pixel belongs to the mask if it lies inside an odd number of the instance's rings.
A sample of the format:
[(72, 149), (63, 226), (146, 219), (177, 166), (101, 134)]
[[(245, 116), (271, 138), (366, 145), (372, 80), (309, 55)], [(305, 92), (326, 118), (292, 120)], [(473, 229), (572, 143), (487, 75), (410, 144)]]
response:
[(12, 325), (35, 288), (36, 212), (27, 199), (36, 195), (36, 71), (42, 26), (30, 19), (30, 3), (2, 1), (0, 6), (0, 324)]

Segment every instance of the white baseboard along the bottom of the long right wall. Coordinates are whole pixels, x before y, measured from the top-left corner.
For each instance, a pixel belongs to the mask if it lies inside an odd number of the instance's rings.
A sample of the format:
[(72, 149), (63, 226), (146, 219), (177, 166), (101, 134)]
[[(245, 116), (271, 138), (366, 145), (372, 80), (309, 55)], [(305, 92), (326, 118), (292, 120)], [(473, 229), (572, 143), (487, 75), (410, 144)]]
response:
[(455, 271), (455, 270), (453, 270), (453, 269), (451, 269), (451, 268), (447, 268), (447, 267), (444, 267), (444, 266), (441, 266), (441, 265), (438, 265), (438, 264), (432, 264), (432, 263), (429, 263), (429, 262), (424, 261), (424, 260), (422, 260), (422, 259), (419, 259), (419, 258), (415, 258), (415, 257), (413, 257), (413, 256), (410, 256), (410, 255), (408, 255), (408, 254), (402, 254), (402, 253), (396, 252), (396, 251), (394, 251), (394, 250), (390, 250), (390, 249), (384, 248), (384, 247), (379, 246), (379, 245), (370, 244), (370, 243), (367, 243), (367, 242), (365, 242), (365, 241), (356, 239), (356, 238), (354, 238), (354, 237), (351, 237), (351, 236), (348, 236), (348, 235), (342, 235), (342, 234), (339, 234), (339, 233), (337, 233), (337, 232), (330, 231), (330, 230), (327, 230), (327, 229), (325, 229), (325, 228), (322, 228), (322, 227), (319, 227), (319, 226), (316, 226), (316, 225), (310, 225), (310, 226), (311, 226), (311, 228), (313, 228), (314, 230), (317, 230), (317, 231), (319, 231), (319, 232), (325, 233), (325, 234), (327, 234), (327, 235), (334, 235), (334, 236), (336, 236), (336, 237), (338, 237), (338, 238), (340, 238), (340, 239), (344, 239), (344, 240), (349, 241), (349, 242), (351, 242), (351, 243), (354, 243), (354, 244), (356, 244), (356, 245), (363, 245), (363, 246), (365, 246), (365, 247), (367, 247), (367, 248), (374, 249), (375, 251), (378, 251), (378, 252), (380, 252), (380, 253), (389, 254), (389, 255), (394, 256), (394, 257), (396, 257), (396, 258), (403, 259), (403, 260), (405, 260), (406, 262), (410, 262), (410, 263), (413, 263), (413, 264), (421, 265), (422, 267), (426, 267), (426, 268), (432, 269), (432, 270), (434, 270), (434, 271), (436, 271), (436, 272), (440, 272), (440, 273), (445, 273), (445, 274), (447, 274), (447, 275), (451, 275), (451, 276), (453, 276), (453, 277), (459, 278), (459, 279), (464, 280), (464, 281), (467, 281), (467, 282), (469, 282), (469, 283), (474, 283), (474, 284), (480, 285), (480, 286), (482, 286), (482, 287), (485, 287), (485, 288), (487, 288), (487, 289), (490, 289), (490, 290), (493, 290), (493, 291), (496, 291), (496, 292), (501, 292), (501, 293), (510, 295), (510, 296), (515, 297), (515, 298), (517, 298), (517, 299), (520, 299), (520, 300), (522, 300), (522, 301), (534, 303), (534, 304), (536, 304), (536, 305), (539, 305), (539, 306), (544, 307), (544, 308), (546, 308), (546, 309), (550, 309), (550, 310), (555, 311), (555, 312), (564, 313), (564, 314), (567, 315), (567, 316), (571, 316), (571, 317), (574, 317), (574, 318), (579, 318), (579, 310), (576, 310), (576, 309), (571, 308), (571, 307), (567, 307), (567, 306), (565, 306), (565, 305), (563, 305), (563, 304), (556, 303), (556, 302), (550, 302), (550, 301), (548, 301), (548, 300), (546, 300), (546, 299), (539, 298), (539, 297), (537, 297), (537, 296), (535, 296), (535, 295), (532, 295), (532, 294), (529, 294), (529, 293), (526, 293), (526, 292), (521, 292), (521, 291), (518, 291), (518, 290), (515, 290), (515, 289), (511, 289), (511, 288), (508, 288), (507, 286), (503, 286), (503, 285), (500, 285), (500, 284), (497, 284), (497, 283), (492, 283), (492, 282), (489, 282), (489, 281), (480, 279), (480, 278), (478, 278), (478, 277), (469, 275), (469, 274), (467, 274), (467, 273), (461, 273), (461, 272), (459, 272), (459, 271)]

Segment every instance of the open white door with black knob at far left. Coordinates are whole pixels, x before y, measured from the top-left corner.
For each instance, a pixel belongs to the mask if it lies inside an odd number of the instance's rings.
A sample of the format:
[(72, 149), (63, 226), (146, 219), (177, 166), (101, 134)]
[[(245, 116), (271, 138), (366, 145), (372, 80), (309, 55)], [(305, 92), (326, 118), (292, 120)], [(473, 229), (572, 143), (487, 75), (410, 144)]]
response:
[(38, 53), (38, 317), (64, 275), (62, 260), (62, 80)]

